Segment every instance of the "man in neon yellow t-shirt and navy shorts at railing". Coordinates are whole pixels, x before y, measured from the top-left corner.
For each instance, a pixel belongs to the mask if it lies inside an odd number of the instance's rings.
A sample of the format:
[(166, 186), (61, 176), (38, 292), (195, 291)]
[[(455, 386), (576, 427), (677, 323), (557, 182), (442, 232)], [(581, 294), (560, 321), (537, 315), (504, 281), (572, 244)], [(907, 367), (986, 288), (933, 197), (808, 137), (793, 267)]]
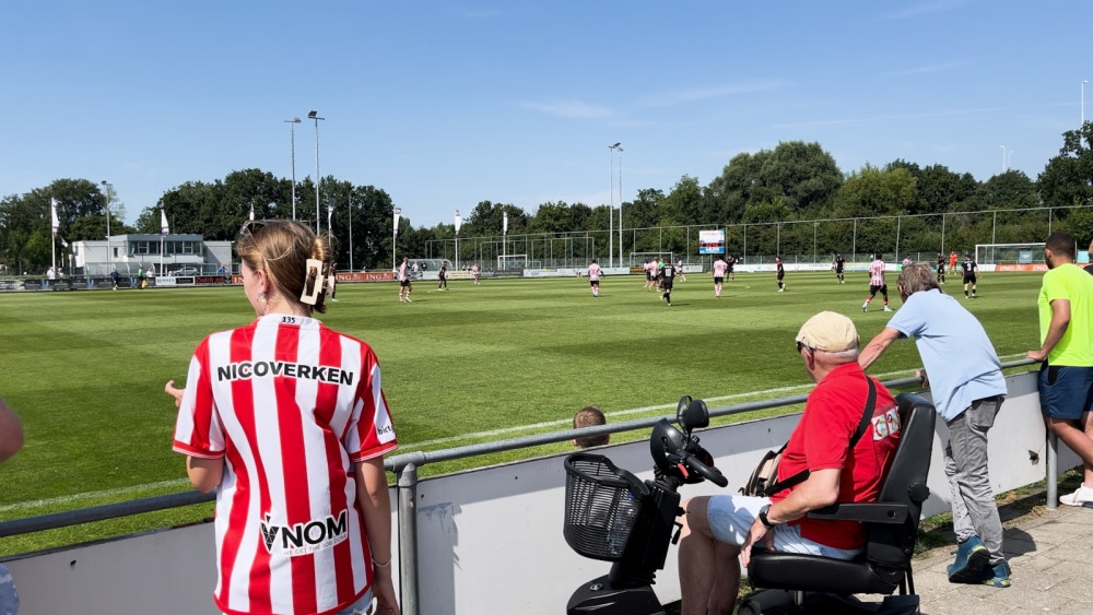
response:
[(1049, 271), (1039, 291), (1038, 351), (1043, 360), (1039, 405), (1047, 428), (1082, 458), (1085, 481), (1059, 498), (1093, 508), (1093, 277), (1074, 264), (1077, 246), (1068, 233), (1053, 233), (1044, 246)]

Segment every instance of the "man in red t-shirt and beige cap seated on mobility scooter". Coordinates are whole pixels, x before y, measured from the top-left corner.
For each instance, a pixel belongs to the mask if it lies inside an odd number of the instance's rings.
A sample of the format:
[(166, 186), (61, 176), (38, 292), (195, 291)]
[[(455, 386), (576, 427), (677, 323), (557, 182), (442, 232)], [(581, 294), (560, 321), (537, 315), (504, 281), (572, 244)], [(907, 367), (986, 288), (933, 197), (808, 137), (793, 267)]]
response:
[(803, 470), (809, 471), (808, 478), (771, 498), (706, 496), (683, 502), (686, 513), (679, 549), (683, 615), (730, 615), (741, 561), (747, 568), (755, 544), (839, 559), (855, 558), (865, 546), (861, 523), (807, 515), (835, 502), (877, 500), (898, 446), (898, 409), (874, 380), (872, 418), (851, 449), (869, 395), (867, 376), (858, 365), (854, 322), (831, 311), (813, 316), (797, 334), (797, 352), (816, 388), (789, 437), (778, 481)]

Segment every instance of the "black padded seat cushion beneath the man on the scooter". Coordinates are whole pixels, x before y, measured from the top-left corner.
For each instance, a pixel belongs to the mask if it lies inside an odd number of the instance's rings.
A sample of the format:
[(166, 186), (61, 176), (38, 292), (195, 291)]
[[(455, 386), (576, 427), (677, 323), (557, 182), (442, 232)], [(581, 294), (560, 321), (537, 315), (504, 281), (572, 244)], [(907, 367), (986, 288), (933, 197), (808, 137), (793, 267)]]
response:
[(755, 548), (748, 565), (754, 587), (807, 592), (891, 594), (902, 575), (888, 576), (894, 582), (878, 576), (865, 556), (846, 560)]

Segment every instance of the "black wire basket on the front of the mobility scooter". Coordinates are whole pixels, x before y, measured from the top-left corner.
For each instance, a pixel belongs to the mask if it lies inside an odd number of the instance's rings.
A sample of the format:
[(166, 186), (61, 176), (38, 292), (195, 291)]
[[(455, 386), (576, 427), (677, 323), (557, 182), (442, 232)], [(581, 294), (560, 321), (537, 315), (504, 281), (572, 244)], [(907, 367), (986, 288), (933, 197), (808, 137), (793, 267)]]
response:
[(574, 453), (564, 466), (565, 542), (584, 557), (621, 560), (648, 487), (601, 454)]

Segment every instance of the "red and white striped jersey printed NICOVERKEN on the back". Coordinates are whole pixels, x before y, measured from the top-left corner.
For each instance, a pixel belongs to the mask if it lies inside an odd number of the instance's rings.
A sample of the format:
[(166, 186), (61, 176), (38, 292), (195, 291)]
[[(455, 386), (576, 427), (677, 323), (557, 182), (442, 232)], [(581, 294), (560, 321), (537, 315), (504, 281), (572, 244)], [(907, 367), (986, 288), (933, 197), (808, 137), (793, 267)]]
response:
[(231, 615), (337, 613), (372, 587), (353, 463), (398, 447), (375, 353), (301, 316), (213, 333), (174, 449), (224, 458), (213, 599)]

